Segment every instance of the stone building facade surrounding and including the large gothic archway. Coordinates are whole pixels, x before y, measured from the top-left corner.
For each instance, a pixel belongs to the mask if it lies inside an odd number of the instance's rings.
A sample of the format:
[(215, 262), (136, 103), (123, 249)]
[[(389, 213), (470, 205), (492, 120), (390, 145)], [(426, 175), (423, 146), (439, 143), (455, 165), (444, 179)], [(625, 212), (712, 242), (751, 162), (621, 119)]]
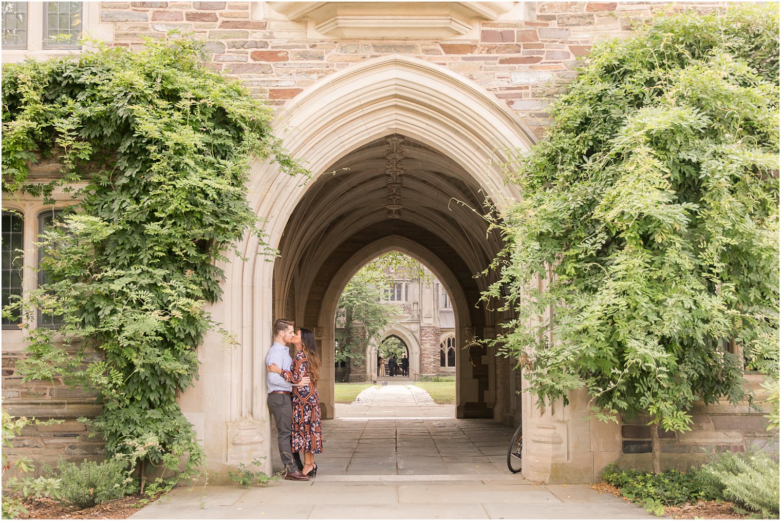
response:
[[(66, 9), (66, 4), (67, 12), (48, 17), (48, 9)], [(313, 175), (304, 181), (275, 165), (256, 161), (251, 166), (250, 202), (270, 217), (266, 232), (280, 256), (263, 261), (255, 255), (257, 244), (246, 242), (239, 250), (250, 260), (236, 257), (223, 266), (224, 299), (211, 312), (236, 332), (240, 347), (226, 353), (219, 335), (205, 338), (198, 351), (200, 379), (180, 399), (203, 440), (209, 470), (224, 472), (271, 453), (262, 360), (273, 318), (316, 325), (320, 345), (333, 346), (341, 289), (366, 262), (396, 250), (426, 264), (451, 297), (452, 328), (443, 328), (432, 308), (425, 325), (428, 317), (421, 313), (418, 332), (422, 344), (441, 342), (445, 329), (455, 335), (456, 416), (522, 422), (526, 477), (588, 482), (617, 459), (646, 457), (648, 433), (637, 424), (583, 420), (589, 410), (585, 392), (572, 393), (567, 407), (562, 402), (538, 406), (523, 392), (525, 382), (512, 360), (473, 342), (492, 338), (508, 318), (480, 305), (491, 277), (476, 275), (501, 249), (501, 238), (486, 233), (485, 203), (501, 207), (520, 197), (505, 183), (500, 165), (543, 136), (550, 123), (547, 105), (576, 76), (578, 58), (587, 57), (594, 42), (625, 37), (633, 24), (661, 9), (715, 7), (704, 2), (672, 7), (657, 2), (2, 2), (2, 62), (61, 57), (89, 47), (79, 48), (75, 38), (53, 44), (52, 31), (83, 30), (130, 48), (171, 30), (192, 32), (206, 42), (205, 66), (268, 101), (279, 115), (277, 135), (294, 157), (308, 161)], [(60, 15), (66, 23), (60, 23)], [(388, 168), (389, 161), (397, 161), (394, 168)], [(51, 165), (36, 168), (41, 179), (56, 172)], [(67, 195), (55, 197), (64, 202)], [(3, 207), (20, 215), (20, 223), (12, 225), (11, 216), (3, 214), (4, 243), (6, 230), (18, 227), (25, 252), (19, 265), (34, 266), (35, 236), (45, 226), (39, 217), (56, 205), (6, 196)], [(316, 255), (295, 255), (294, 245), (301, 243), (312, 245)], [(9, 280), (18, 278), (16, 286), (4, 283), (4, 295), (34, 288), (31, 268), (14, 271), (16, 264), (4, 265)], [(56, 382), (20, 383), (15, 360), (23, 336), (15, 324), (4, 324), (5, 406), (16, 415), (66, 421), (25, 431), (16, 450), (95, 455), (98, 448), (80, 437), (84, 430), (74, 421), (95, 413), (89, 396), (70, 395)], [(323, 367), (333, 367), (333, 352), (322, 354)], [(436, 363), (421, 361), (421, 372), (434, 370)], [(333, 416), (334, 379), (335, 372), (324, 370), (320, 396), (326, 417)], [(740, 406), (708, 408), (699, 432), (665, 442), (665, 455), (677, 461), (680, 452), (694, 455), (701, 447), (744, 448), (760, 437), (761, 421)]]

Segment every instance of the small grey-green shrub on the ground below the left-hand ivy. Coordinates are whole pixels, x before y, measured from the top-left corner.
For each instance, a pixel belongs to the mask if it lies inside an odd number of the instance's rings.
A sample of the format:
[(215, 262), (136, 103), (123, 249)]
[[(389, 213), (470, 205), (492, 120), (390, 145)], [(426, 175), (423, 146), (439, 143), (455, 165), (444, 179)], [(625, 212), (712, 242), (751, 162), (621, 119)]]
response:
[(80, 509), (123, 498), (136, 491), (123, 459), (106, 459), (102, 463), (84, 459), (80, 465), (60, 460), (56, 470), (48, 465), (44, 465), (43, 470), (61, 481), (60, 501)]

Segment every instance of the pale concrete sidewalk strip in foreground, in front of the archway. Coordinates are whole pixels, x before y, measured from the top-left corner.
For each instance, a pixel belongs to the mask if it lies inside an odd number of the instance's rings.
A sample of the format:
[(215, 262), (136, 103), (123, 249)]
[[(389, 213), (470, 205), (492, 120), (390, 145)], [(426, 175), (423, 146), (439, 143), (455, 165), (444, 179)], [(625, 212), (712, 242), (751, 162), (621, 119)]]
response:
[(180, 488), (130, 519), (658, 519), (587, 485), (450, 478)]

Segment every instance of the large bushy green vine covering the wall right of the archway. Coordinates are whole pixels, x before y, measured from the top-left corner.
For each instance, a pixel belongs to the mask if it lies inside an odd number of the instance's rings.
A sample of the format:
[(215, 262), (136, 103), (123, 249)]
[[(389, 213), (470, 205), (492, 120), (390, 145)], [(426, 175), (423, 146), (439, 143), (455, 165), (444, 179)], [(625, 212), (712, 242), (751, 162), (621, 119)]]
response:
[(657, 473), (658, 427), (744, 399), (744, 363), (778, 376), (778, 36), (776, 6), (751, 5), (597, 44), (509, 165), (523, 197), (484, 297), (512, 289), (517, 318), (497, 344), (540, 400), (585, 386), (603, 420), (650, 415)]

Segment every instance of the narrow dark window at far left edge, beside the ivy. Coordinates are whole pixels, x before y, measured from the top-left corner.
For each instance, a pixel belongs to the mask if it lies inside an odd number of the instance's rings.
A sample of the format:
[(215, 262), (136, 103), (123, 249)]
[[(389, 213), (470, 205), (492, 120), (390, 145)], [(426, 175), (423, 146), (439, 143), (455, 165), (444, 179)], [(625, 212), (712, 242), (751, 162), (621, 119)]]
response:
[[(14, 211), (2, 212), (2, 307), (5, 309), (22, 296), (22, 269), (24, 254), (24, 217)], [(2, 327), (16, 328), (22, 320), (19, 310), (13, 318), (2, 319)]]

